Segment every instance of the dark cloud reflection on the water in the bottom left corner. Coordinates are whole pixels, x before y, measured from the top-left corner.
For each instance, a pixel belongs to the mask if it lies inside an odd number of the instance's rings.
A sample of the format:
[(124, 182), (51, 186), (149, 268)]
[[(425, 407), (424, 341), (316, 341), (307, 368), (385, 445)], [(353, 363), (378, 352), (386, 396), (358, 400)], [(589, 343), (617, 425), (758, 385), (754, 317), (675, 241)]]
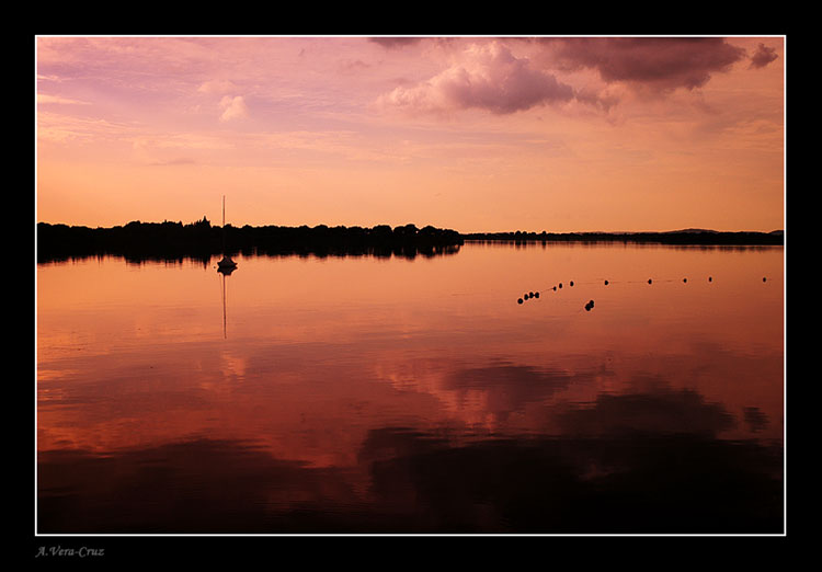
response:
[[(237, 441), (181, 442), (105, 457), (41, 453), (38, 476), (41, 533), (311, 531), (322, 522), (320, 503), (357, 501), (341, 472), (278, 460)], [(355, 515), (347, 524), (353, 522)]]

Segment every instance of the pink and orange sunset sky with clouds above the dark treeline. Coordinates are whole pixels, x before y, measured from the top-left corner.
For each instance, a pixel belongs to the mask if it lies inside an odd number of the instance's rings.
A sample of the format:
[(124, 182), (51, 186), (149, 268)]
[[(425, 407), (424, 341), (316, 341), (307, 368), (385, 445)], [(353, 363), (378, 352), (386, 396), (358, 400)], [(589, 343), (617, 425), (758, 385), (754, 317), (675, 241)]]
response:
[(785, 227), (785, 37), (36, 36), (36, 220)]

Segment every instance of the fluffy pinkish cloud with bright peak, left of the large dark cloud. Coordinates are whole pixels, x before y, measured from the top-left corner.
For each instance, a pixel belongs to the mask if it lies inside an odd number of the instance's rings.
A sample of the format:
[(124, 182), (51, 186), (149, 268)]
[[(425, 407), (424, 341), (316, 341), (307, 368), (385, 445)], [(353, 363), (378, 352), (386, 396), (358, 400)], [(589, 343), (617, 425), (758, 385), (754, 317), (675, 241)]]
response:
[(510, 114), (536, 105), (567, 102), (570, 85), (534, 69), (501, 43), (471, 45), (452, 67), (425, 82), (398, 87), (380, 103), (412, 112), (449, 112), (480, 108)]

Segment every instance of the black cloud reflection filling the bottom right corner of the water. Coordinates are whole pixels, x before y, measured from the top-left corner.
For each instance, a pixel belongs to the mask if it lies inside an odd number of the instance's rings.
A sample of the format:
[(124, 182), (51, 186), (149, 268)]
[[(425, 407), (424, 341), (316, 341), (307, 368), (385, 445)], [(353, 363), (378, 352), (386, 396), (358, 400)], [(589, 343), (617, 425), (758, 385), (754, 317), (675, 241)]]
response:
[(372, 432), (374, 502), (401, 530), (779, 533), (781, 449), (700, 434), (492, 439), (448, 446)]

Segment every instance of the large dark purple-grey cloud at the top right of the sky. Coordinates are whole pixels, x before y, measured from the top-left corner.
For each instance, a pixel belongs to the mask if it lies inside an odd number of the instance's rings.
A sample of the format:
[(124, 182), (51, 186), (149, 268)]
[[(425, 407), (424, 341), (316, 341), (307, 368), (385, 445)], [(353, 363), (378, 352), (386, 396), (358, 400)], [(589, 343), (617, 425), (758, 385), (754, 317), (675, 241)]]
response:
[(605, 82), (662, 91), (705, 85), (745, 56), (741, 47), (715, 37), (544, 38), (567, 70), (595, 69)]

